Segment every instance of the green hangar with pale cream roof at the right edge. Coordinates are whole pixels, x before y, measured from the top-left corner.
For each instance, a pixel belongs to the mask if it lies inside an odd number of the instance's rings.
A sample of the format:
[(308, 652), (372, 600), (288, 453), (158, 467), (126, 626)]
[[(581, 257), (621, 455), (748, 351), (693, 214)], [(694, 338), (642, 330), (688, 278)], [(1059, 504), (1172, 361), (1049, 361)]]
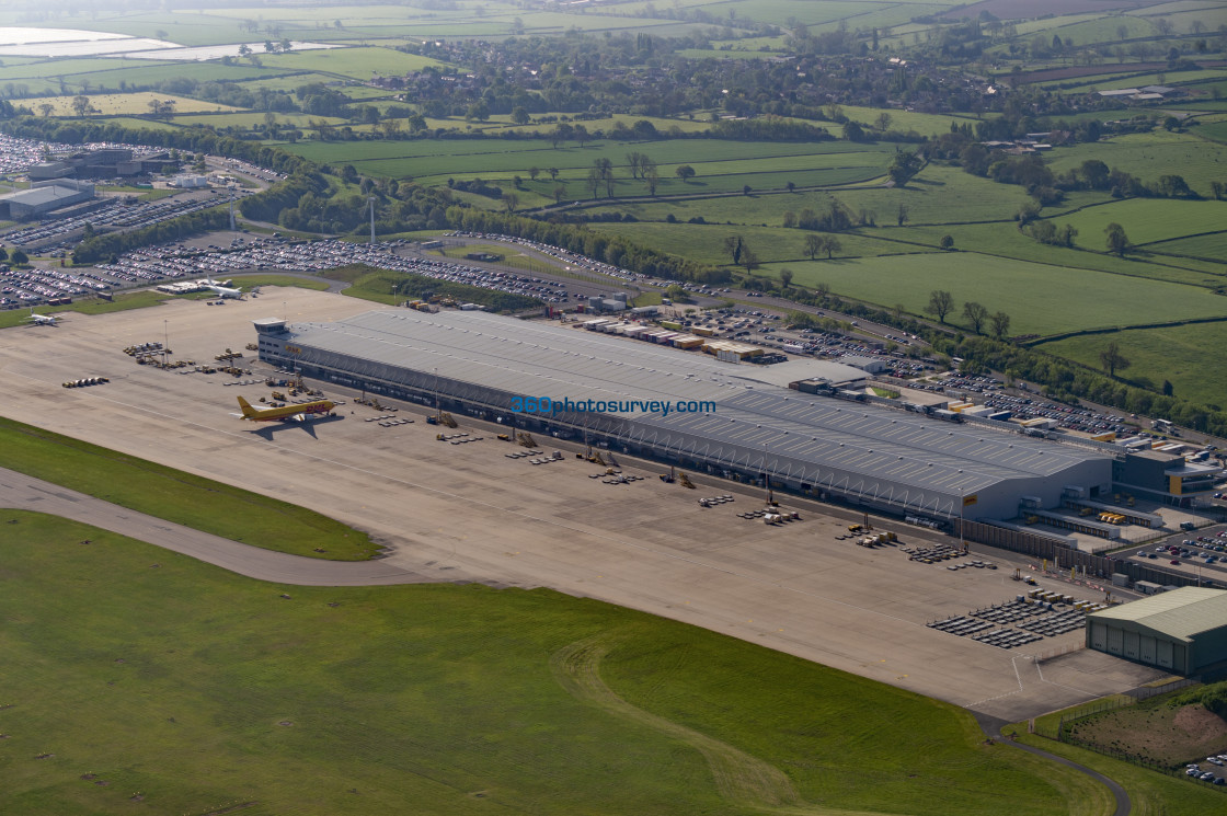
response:
[(1086, 645), (1195, 675), (1227, 661), (1227, 591), (1184, 587), (1092, 612)]

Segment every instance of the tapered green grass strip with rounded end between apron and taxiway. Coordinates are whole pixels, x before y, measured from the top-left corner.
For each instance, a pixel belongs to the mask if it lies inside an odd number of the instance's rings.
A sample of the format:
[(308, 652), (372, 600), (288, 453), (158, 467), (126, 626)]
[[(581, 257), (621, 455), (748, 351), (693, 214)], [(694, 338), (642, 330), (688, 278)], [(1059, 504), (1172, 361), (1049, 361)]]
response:
[(375, 552), (319, 513), (21, 422), (0, 418), (0, 449), (5, 468), (234, 541), (333, 561)]

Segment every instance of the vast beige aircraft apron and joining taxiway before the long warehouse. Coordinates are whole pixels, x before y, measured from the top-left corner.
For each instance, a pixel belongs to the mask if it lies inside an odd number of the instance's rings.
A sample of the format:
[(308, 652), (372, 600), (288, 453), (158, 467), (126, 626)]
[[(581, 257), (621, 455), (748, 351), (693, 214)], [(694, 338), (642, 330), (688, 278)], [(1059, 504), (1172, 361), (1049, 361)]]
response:
[[(387, 557), (353, 564), (271, 553), (13, 474), (0, 474), (0, 503), (106, 529), (121, 525), (117, 531), (282, 583), (548, 587), (690, 622), (1007, 722), (1160, 676), (1077, 649), (1081, 631), (1005, 650), (925, 626), (1012, 600), (1023, 589), (1011, 580), (1014, 567), (1026, 561), (1010, 553), (972, 555), (995, 561), (996, 571), (953, 572), (912, 562), (896, 547), (870, 550), (837, 540), (847, 533), (848, 510), (788, 497), (780, 497), (783, 507), (799, 510), (801, 520), (767, 526), (736, 515), (763, 507), (761, 488), (704, 476), (690, 491), (656, 479), (660, 466), (622, 456), (623, 472), (644, 479), (607, 485), (591, 477), (604, 469), (575, 459), (577, 445), (539, 439), (539, 449), (560, 449), (563, 459), (531, 465), (507, 456), (523, 448), (497, 441), (497, 427), (463, 417), (456, 417), (461, 427), (455, 432), (428, 426), (421, 407), (415, 414), (401, 405), (388, 414), (347, 404), (333, 420), (253, 427), (232, 415), (236, 396), (254, 402), (270, 389), (228, 383), (256, 379), (258, 366), (255, 375), (236, 380), (137, 366), (121, 351), (169, 336), (175, 357), (211, 361), (226, 347), (242, 350), (252, 342), (253, 319), (335, 320), (384, 308), (299, 288), (264, 291), (259, 299), (226, 306), (175, 301), (97, 317), (69, 313), (54, 328), (0, 331), (0, 414), (309, 507), (371, 533)], [(250, 360), (245, 366), (252, 367)], [(60, 385), (96, 375), (112, 382)], [(330, 387), (325, 394), (345, 398)], [(385, 415), (416, 422), (380, 427), (364, 421)], [(436, 438), (440, 429), (482, 439), (449, 444)], [(712, 508), (696, 502), (725, 493), (735, 502)], [(934, 540), (915, 528), (892, 529), (903, 544)], [(1076, 598), (1102, 598), (1049, 578), (1040, 584)], [(1071, 652), (1040, 660), (1063, 650)]]

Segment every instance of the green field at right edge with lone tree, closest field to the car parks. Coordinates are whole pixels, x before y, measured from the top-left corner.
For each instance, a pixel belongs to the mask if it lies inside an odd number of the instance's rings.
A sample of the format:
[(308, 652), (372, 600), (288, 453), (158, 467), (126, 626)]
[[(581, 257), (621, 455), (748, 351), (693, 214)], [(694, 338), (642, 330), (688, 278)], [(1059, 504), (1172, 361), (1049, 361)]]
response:
[[(1150, 318), (1142, 312), (1135, 323)], [(1177, 396), (1227, 407), (1227, 371), (1207, 364), (1227, 347), (1227, 323), (1195, 323), (1162, 329), (1131, 329), (1108, 335), (1069, 337), (1038, 346), (1040, 351), (1069, 357), (1092, 368), (1099, 367), (1099, 352), (1107, 344), (1120, 344), (1120, 353), (1133, 364), (1119, 372), (1125, 379), (1148, 379), (1161, 385), (1171, 380)]]

